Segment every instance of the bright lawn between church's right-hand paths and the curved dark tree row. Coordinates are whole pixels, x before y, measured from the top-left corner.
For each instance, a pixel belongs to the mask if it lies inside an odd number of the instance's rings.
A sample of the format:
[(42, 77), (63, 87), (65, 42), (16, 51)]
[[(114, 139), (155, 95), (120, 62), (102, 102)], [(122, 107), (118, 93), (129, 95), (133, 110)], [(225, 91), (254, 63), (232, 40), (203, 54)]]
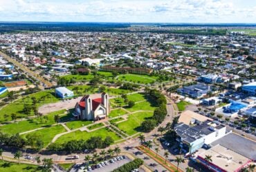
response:
[(134, 135), (140, 131), (140, 122), (145, 118), (152, 117), (152, 112), (138, 112), (128, 116), (128, 120), (118, 123), (118, 128), (125, 131), (129, 136)]

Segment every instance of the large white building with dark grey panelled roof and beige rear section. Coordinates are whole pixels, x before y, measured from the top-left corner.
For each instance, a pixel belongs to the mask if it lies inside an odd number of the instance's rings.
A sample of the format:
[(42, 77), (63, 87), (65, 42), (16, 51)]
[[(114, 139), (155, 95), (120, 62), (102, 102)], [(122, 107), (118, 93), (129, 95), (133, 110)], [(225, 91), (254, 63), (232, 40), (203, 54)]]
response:
[[(188, 119), (185, 118), (188, 116)], [(200, 114), (185, 112), (179, 117), (179, 123), (174, 127), (180, 147), (185, 152), (193, 153), (226, 135), (226, 126)]]

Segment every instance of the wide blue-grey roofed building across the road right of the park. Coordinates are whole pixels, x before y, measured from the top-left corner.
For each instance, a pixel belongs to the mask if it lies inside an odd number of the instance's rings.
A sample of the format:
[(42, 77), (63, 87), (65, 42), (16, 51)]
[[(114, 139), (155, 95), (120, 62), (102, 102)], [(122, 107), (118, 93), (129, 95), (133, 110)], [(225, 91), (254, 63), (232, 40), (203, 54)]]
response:
[(212, 91), (212, 89), (209, 85), (203, 85), (201, 83), (177, 89), (177, 92), (181, 94), (187, 94), (192, 98), (201, 98), (206, 96), (210, 91)]

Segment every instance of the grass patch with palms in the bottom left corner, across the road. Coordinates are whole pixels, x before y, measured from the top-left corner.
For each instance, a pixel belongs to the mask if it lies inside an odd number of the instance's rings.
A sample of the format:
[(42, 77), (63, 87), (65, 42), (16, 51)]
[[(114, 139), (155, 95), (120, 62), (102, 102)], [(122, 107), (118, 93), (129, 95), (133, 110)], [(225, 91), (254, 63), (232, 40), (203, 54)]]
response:
[(42, 171), (42, 169), (37, 169), (38, 166), (30, 164), (18, 164), (15, 162), (0, 161), (0, 171), (1, 172), (23, 172), (23, 171)]

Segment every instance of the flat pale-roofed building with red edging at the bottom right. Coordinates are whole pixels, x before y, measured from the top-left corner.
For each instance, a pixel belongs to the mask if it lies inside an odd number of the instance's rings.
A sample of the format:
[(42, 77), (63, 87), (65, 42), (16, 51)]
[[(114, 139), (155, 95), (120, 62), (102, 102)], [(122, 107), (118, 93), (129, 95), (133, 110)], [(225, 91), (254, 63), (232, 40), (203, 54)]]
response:
[[(205, 156), (210, 155), (212, 161), (207, 162)], [(196, 160), (216, 172), (240, 171), (244, 166), (249, 164), (250, 159), (246, 158), (231, 149), (218, 144), (197, 156)]]

